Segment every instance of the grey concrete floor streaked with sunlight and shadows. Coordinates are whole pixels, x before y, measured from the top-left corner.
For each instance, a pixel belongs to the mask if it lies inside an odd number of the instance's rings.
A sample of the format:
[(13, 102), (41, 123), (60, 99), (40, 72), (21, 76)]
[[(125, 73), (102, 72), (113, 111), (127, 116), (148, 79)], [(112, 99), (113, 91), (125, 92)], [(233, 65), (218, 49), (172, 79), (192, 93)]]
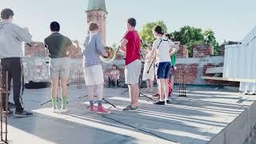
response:
[[(69, 87), (67, 114), (54, 114), (51, 104), (40, 106), (50, 98), (50, 89), (25, 90), (26, 110), (30, 118), (9, 118), (9, 139), (14, 144), (115, 144), (115, 143), (207, 143), (246, 110), (254, 97), (214, 88), (188, 87), (188, 97), (177, 97), (167, 106), (154, 106), (140, 98), (138, 112), (122, 112), (130, 102), (123, 88), (105, 89), (104, 97), (118, 106), (104, 104), (112, 114), (90, 114), (85, 86)], [(143, 90), (142, 90), (143, 92)], [(244, 99), (244, 100), (241, 100)]]

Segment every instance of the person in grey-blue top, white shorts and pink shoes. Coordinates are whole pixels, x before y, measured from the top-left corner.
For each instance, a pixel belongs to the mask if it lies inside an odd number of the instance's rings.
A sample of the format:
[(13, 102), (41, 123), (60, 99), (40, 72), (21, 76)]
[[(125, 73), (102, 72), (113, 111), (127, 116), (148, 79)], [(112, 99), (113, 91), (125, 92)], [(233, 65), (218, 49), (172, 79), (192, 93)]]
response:
[(86, 86), (89, 87), (89, 99), (90, 99), (90, 112), (94, 113), (94, 86), (97, 86), (97, 102), (98, 102), (98, 114), (110, 114), (109, 110), (106, 110), (102, 106), (103, 95), (103, 70), (102, 63), (99, 58), (109, 57), (110, 54), (102, 46), (102, 36), (98, 34), (98, 25), (94, 22), (89, 23), (88, 30), (90, 34), (86, 37), (83, 54), (83, 67)]

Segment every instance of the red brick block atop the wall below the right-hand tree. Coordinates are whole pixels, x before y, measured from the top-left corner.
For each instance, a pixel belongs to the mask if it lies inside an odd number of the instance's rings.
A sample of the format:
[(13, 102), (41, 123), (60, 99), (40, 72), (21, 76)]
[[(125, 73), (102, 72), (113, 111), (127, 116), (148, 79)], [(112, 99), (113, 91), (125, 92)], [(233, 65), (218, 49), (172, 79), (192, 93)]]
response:
[(193, 58), (203, 58), (214, 55), (214, 47), (209, 44), (192, 46)]

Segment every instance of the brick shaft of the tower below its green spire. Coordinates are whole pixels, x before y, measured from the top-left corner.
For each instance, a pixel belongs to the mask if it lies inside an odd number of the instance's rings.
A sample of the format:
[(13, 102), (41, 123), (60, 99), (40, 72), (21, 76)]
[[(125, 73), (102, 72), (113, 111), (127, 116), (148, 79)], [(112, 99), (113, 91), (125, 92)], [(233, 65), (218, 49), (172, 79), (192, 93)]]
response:
[(106, 11), (89, 10), (86, 11), (87, 23), (96, 22), (99, 26), (99, 33), (102, 34), (102, 43), (106, 46)]

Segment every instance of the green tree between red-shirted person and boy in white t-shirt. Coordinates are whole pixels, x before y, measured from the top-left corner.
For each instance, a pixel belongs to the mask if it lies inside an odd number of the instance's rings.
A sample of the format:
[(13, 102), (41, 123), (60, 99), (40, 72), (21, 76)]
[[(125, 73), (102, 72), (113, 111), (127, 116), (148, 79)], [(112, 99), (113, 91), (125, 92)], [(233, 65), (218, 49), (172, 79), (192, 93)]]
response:
[(152, 30), (154, 26), (161, 26), (162, 31), (165, 33), (167, 31), (167, 27), (164, 24), (163, 21), (157, 21), (157, 22), (148, 22), (144, 26), (142, 26), (142, 30), (139, 31), (139, 35), (142, 38), (142, 48), (145, 47), (145, 44), (143, 42), (146, 42), (150, 45), (154, 42), (154, 35), (152, 33)]

